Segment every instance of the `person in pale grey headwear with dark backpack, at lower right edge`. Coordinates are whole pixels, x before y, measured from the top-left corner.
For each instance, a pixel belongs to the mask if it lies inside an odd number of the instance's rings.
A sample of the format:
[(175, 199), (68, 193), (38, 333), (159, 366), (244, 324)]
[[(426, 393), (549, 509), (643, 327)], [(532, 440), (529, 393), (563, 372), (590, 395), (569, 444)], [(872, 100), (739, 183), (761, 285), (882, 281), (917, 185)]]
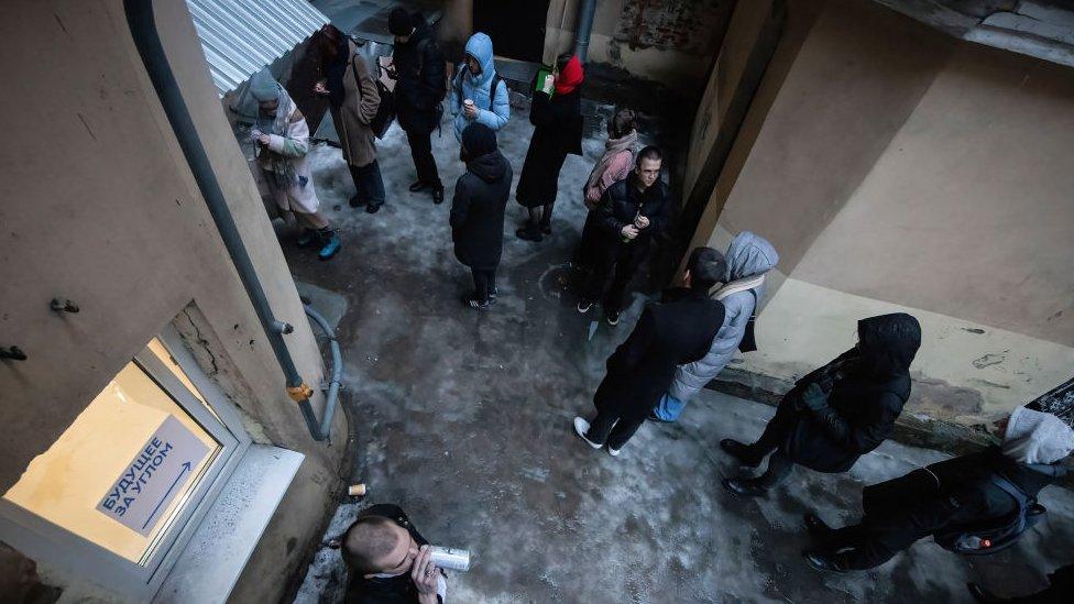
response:
[(807, 514), (806, 526), (820, 547), (807, 551), (806, 560), (832, 572), (872, 569), (941, 530), (1002, 521), (1019, 509), (1004, 486), (1035, 499), (1065, 475), (1063, 460), (1072, 450), (1074, 430), (1062, 419), (1019, 407), (1010, 415), (1000, 447), (866, 486), (859, 524), (836, 530)]

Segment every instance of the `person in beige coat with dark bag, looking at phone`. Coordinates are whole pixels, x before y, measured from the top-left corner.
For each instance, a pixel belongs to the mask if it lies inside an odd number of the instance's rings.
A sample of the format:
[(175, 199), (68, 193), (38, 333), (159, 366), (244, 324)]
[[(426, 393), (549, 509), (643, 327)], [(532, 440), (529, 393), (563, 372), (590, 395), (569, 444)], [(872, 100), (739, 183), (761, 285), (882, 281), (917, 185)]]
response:
[(384, 182), (370, 127), (381, 105), (376, 81), (354, 42), (331, 25), (326, 25), (321, 33), (326, 77), (317, 83), (314, 91), (328, 97), (343, 160), (358, 189), (351, 197), (351, 207), (365, 206), (365, 211), (374, 213), (384, 204)]

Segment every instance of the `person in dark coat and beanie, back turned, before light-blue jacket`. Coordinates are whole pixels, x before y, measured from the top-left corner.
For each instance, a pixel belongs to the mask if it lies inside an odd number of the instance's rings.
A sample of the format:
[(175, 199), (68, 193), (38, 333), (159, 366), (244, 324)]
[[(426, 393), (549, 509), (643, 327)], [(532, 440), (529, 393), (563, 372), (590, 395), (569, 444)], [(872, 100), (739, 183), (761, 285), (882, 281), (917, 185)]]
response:
[(473, 273), (474, 293), (463, 304), (483, 310), (498, 293), (496, 268), (512, 171), (496, 147), (496, 133), (483, 123), (471, 123), (462, 132), (462, 158), (467, 172), (454, 185), (451, 239), (454, 256)]

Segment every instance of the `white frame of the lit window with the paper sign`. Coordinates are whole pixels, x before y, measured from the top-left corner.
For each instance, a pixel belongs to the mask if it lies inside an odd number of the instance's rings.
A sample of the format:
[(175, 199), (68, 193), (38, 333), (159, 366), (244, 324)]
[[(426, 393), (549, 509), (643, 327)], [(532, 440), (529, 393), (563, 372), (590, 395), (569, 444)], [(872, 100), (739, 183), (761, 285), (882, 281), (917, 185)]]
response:
[(167, 525), (161, 534), (149, 543), (144, 565), (0, 497), (0, 538), (4, 541), (37, 561), (64, 568), (121, 595), (146, 600), (160, 589), (251, 443), (239, 413), (198, 366), (174, 326), (166, 326), (156, 338), (211, 411), (149, 345), (132, 361), (211, 435), (221, 449), (195, 487), (185, 494), (186, 501), (178, 512), (166, 520)]

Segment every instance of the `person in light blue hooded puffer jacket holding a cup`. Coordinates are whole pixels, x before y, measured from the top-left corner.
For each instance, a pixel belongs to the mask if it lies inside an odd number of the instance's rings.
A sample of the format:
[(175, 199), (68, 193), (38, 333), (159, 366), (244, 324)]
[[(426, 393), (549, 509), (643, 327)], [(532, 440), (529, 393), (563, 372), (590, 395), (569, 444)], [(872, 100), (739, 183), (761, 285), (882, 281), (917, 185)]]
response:
[[(495, 90), (492, 90), (495, 84)], [(467, 107), (465, 101), (473, 101)], [(454, 138), (462, 142), (462, 131), (472, 122), (483, 123), (496, 131), (511, 118), (507, 83), (496, 75), (492, 59), (492, 39), (478, 32), (467, 41), (467, 57), (451, 81), (451, 114), (454, 117)]]

